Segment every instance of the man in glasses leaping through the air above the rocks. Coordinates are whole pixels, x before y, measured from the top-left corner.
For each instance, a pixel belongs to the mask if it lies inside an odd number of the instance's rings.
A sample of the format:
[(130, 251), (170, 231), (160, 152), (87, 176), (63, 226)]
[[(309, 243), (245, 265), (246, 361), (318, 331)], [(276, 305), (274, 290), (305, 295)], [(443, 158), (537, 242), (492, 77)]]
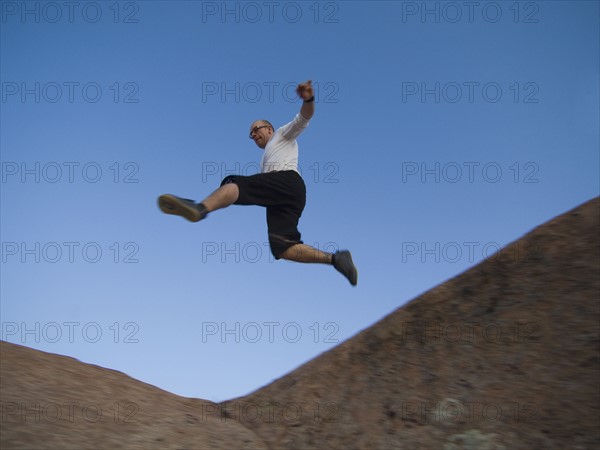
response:
[(303, 104), (290, 123), (276, 131), (267, 120), (257, 120), (250, 127), (250, 139), (264, 150), (261, 173), (228, 176), (219, 189), (200, 203), (165, 194), (158, 198), (158, 205), (164, 213), (182, 216), (191, 222), (233, 204), (264, 206), (269, 246), (276, 259), (332, 265), (356, 286), (358, 274), (349, 251), (326, 253), (300, 240), (298, 221), (306, 203), (306, 186), (298, 172), (296, 138), (315, 112), (315, 97), (310, 80), (299, 84), (296, 92)]

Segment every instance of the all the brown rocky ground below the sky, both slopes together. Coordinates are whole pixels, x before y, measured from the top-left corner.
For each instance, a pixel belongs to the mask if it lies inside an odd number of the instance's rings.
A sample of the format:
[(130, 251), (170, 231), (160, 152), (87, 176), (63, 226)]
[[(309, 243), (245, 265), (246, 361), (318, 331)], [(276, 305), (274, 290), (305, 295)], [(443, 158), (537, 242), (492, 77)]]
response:
[[(3, 343), (2, 448), (600, 448), (599, 216), (596, 198), (220, 405)], [(12, 411), (65, 399), (137, 422)]]

